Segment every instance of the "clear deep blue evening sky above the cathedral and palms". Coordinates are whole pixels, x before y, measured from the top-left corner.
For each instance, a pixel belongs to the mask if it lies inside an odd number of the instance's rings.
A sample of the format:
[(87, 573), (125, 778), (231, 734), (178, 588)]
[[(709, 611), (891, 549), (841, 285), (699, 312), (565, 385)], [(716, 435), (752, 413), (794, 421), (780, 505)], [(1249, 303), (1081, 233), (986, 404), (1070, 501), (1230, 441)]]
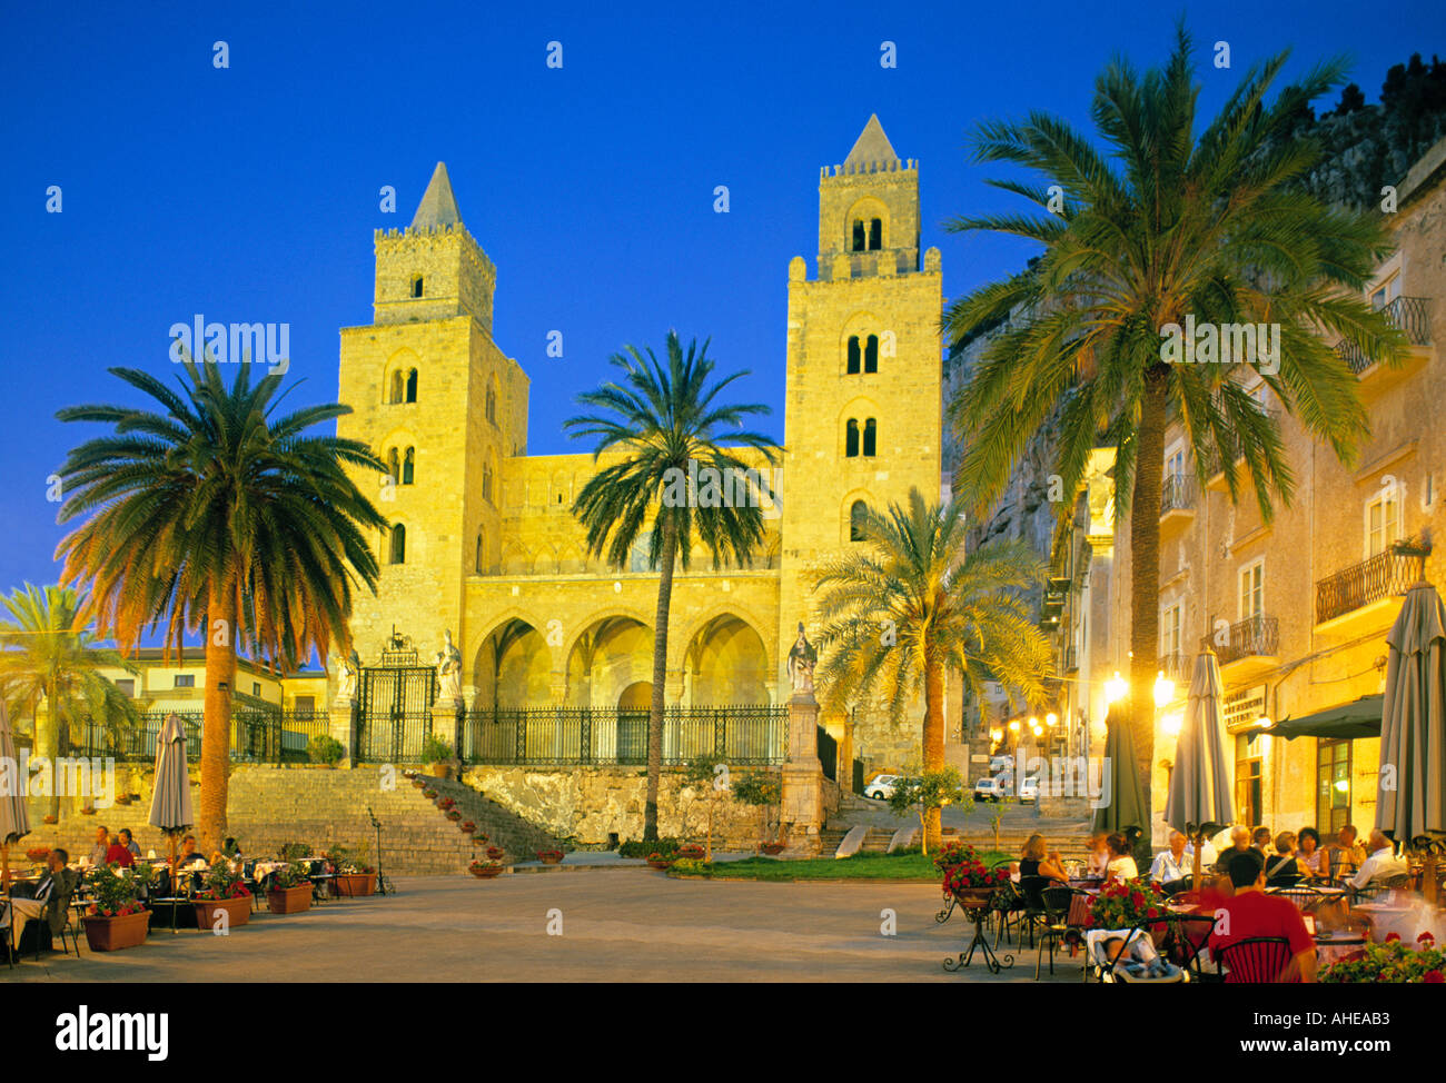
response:
[[(774, 406), (781, 438), (788, 260), (814, 273), (818, 168), (869, 113), (921, 159), (923, 244), (943, 250), (956, 296), (1028, 254), (938, 228), (1009, 202), (967, 163), (970, 124), (1031, 108), (1086, 124), (1099, 68), (1116, 52), (1158, 64), (1181, 10), (1206, 108), (1285, 46), (1290, 72), (1349, 52), (1369, 101), (1391, 64), (1446, 52), (1439, 0), (285, 7), (0, 16), (0, 590), (58, 574), (45, 479), (91, 427), (55, 411), (120, 396), (107, 366), (168, 373), (174, 322), (289, 322), (298, 401), (334, 398), (337, 330), (372, 317), (372, 230), (411, 220), (438, 159), (497, 266), (493, 330), (532, 377), (532, 453), (568, 450), (573, 396), (609, 353), (668, 327), (711, 335), (723, 370), (752, 369), (742, 393)], [(1228, 72), (1209, 62), (1219, 39)], [(879, 65), (884, 40), (897, 69)], [(61, 214), (45, 213), (49, 185)], [(382, 185), (396, 214), (380, 213)], [(545, 356), (554, 328), (561, 360)]]

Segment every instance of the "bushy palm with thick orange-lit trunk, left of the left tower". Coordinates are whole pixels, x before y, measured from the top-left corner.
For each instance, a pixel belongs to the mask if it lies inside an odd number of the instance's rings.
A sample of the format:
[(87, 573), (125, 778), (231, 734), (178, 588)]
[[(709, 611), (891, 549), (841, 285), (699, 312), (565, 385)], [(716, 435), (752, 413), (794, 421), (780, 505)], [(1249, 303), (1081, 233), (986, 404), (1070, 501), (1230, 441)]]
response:
[(85, 405), (61, 421), (95, 421), (111, 435), (81, 444), (61, 468), (61, 522), (88, 516), (56, 549), (62, 583), (90, 586), (98, 633), (129, 652), (165, 622), (205, 642), (201, 732), (201, 849), (226, 837), (231, 688), (237, 649), (291, 672), (330, 643), (350, 643), (353, 577), (376, 588), (364, 531), (383, 516), (344, 467), (385, 470), (354, 440), (304, 435), (350, 414), (325, 403), (278, 416), (281, 376), (254, 386), (250, 364), (230, 388), (210, 357), (184, 359), (179, 393), (136, 369), (110, 372), (162, 411)]

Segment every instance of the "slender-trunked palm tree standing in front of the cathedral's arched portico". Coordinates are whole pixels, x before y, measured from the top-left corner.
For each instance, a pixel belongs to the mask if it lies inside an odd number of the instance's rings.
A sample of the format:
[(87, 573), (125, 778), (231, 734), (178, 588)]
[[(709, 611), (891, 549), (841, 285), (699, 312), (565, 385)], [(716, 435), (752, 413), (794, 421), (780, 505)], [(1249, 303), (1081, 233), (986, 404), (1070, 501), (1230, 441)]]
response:
[[(759, 497), (766, 499), (772, 493), (759, 474), (748, 474), (749, 464), (735, 451), (752, 448), (771, 464), (775, 448), (768, 437), (743, 428), (749, 415), (769, 414), (768, 406), (717, 402), (730, 383), (748, 376), (748, 370), (710, 383), (714, 363), (707, 356), (707, 341), (700, 347), (694, 340), (684, 353), (678, 333), (668, 331), (665, 363), (651, 347), (641, 351), (635, 346), (623, 348), (623, 353), (609, 357), (620, 379), (577, 396), (580, 405), (602, 412), (568, 418), (564, 428), (574, 440), (597, 441), (594, 463), (604, 451), (620, 455), (593, 474), (573, 503), (573, 513), (587, 528), (589, 552), (606, 555), (616, 568), (626, 567), (635, 541), (648, 529), (648, 567), (661, 573), (654, 617), (648, 801), (643, 807), (643, 839), (652, 842), (658, 837), (674, 565), (681, 562), (687, 571), (694, 531), (713, 554), (714, 567), (724, 560), (739, 565), (752, 561), (752, 552), (763, 538)], [(723, 440), (727, 440), (727, 447)], [(690, 480), (706, 479), (706, 470), (719, 471), (717, 477), (736, 479), (735, 492), (723, 495), (732, 499), (716, 500), (709, 496), (706, 484), (697, 486)], [(737, 492), (737, 480), (742, 480), (746, 493)], [(709, 499), (700, 499), (704, 496)]]

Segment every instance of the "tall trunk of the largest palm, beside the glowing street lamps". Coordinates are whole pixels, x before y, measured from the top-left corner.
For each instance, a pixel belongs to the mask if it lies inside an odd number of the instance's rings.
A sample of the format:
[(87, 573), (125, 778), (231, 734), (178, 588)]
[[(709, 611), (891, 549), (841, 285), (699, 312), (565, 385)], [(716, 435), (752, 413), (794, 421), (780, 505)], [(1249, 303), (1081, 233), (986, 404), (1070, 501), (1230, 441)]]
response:
[[(1154, 685), (1160, 649), (1160, 484), (1164, 476), (1165, 412), (1170, 370), (1145, 370), (1135, 455), (1135, 490), (1129, 502), (1129, 724), (1135, 739), (1139, 787), (1145, 798), (1144, 834), (1137, 852), (1151, 850), (1154, 818), (1150, 781), (1155, 759)], [(1138, 857), (1137, 857), (1138, 863)], [(1144, 866), (1141, 866), (1144, 868)]]

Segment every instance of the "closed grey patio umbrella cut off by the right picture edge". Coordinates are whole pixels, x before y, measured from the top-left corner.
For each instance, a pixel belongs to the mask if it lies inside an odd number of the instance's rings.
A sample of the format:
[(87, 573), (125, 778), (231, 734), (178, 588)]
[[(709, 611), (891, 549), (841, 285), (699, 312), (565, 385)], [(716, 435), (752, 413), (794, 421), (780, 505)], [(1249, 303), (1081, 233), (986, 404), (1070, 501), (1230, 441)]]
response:
[(1446, 839), (1446, 606), (1436, 587), (1407, 591), (1385, 642), (1375, 826), (1426, 849), (1421, 886), (1434, 901), (1434, 847)]

